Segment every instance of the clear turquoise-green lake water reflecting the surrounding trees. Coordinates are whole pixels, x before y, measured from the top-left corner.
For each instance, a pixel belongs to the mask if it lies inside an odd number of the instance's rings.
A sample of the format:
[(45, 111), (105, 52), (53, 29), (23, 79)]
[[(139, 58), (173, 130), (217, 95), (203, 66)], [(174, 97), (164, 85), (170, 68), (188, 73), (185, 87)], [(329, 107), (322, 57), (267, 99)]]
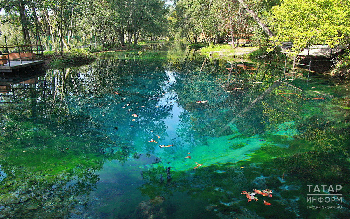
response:
[(349, 83), (283, 68), (161, 43), (48, 70), (0, 104), (0, 218), (348, 218)]

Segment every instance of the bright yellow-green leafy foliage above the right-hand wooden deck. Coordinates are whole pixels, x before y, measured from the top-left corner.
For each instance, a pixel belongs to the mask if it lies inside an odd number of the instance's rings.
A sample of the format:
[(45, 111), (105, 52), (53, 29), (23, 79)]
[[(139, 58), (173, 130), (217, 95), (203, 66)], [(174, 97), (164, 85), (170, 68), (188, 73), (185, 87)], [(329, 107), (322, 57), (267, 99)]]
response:
[(335, 46), (350, 42), (350, 5), (344, 0), (284, 0), (273, 9), (273, 31), (280, 42), (292, 41), (292, 50), (312, 44)]

